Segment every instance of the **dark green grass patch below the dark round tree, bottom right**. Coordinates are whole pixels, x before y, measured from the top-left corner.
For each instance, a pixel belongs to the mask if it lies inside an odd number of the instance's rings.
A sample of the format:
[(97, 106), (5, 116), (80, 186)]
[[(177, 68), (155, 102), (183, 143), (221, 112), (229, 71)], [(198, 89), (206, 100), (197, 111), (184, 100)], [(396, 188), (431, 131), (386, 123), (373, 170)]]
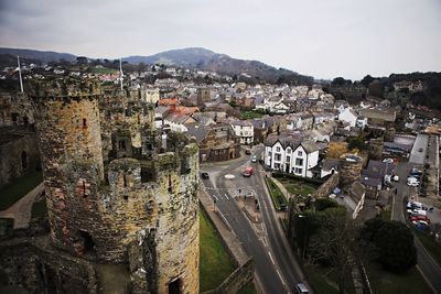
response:
[(432, 293), (415, 266), (404, 274), (394, 274), (384, 270), (376, 262), (366, 265), (367, 276), (374, 293)]

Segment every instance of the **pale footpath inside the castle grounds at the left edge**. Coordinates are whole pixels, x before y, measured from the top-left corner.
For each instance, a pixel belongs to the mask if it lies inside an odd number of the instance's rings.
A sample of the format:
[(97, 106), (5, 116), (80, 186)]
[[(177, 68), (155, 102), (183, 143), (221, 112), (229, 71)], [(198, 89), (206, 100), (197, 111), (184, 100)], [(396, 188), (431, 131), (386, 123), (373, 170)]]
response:
[(35, 197), (44, 190), (43, 182), (34, 187), (31, 192), (14, 203), (10, 208), (0, 211), (0, 217), (12, 218), (14, 220), (14, 229), (28, 228), (31, 220), (32, 204)]

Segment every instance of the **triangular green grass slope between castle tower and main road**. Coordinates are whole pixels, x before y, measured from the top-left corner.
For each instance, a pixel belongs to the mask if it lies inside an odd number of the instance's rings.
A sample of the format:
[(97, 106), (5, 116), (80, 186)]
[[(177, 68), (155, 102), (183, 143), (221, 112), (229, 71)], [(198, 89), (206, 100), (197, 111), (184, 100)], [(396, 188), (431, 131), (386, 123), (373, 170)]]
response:
[(235, 266), (212, 224), (202, 211), (200, 213), (200, 292), (204, 292), (224, 282), (234, 272)]

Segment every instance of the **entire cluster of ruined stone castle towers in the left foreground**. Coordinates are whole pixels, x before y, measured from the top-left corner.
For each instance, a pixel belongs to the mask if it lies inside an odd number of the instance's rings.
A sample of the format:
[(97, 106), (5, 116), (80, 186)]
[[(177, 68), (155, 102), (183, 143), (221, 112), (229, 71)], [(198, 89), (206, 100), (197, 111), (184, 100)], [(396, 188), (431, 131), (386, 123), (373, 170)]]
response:
[[(125, 99), (121, 111), (115, 109), (121, 104), (103, 104), (92, 80), (37, 83), (30, 96), (51, 244), (92, 269), (78, 276), (61, 257), (49, 262), (36, 254), (41, 279), (53, 279), (57, 293), (66, 292), (63, 276), (79, 280), (67, 293), (97, 293), (106, 280), (101, 269), (111, 264), (130, 281), (116, 293), (198, 293), (196, 143), (178, 133), (164, 139), (153, 108), (130, 92), (114, 97)], [(45, 288), (37, 277), (29, 283)]]

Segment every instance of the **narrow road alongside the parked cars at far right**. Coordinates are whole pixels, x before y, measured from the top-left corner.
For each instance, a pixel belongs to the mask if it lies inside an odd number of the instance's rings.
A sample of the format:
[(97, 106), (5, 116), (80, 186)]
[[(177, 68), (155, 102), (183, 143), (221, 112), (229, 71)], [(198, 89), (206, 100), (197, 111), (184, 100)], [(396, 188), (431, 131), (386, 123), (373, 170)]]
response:
[[(392, 207), (392, 219), (405, 222), (404, 211), (404, 197), (415, 196), (418, 194), (417, 187), (409, 187), (406, 185), (406, 178), (413, 166), (411, 163), (399, 163), (395, 168), (396, 174), (399, 175), (400, 182), (396, 185), (398, 195), (395, 196)], [(441, 268), (429, 254), (426, 248), (416, 238), (415, 246), (417, 248), (418, 264), (417, 268), (431, 286), (434, 293), (441, 293)]]

